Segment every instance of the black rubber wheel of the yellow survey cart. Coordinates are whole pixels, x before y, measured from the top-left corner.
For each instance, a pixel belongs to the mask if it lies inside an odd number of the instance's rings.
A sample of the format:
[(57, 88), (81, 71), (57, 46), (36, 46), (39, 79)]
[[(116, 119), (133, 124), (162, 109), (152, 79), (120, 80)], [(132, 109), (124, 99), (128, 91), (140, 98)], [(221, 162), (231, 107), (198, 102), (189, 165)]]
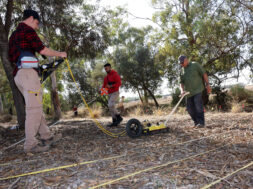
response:
[(131, 138), (141, 136), (143, 127), (138, 119), (130, 119), (126, 124), (127, 135)]

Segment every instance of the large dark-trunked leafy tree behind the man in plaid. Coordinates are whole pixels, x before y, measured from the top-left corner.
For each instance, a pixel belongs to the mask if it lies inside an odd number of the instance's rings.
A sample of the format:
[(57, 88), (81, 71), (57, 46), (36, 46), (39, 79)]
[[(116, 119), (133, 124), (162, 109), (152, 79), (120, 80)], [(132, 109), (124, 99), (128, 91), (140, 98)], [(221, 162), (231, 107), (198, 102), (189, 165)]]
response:
[(50, 40), (49, 46), (67, 50), (70, 59), (94, 58), (103, 52), (107, 47), (107, 26), (101, 12), (96, 12), (94, 6), (87, 5), (82, 0), (63, 0), (60, 3), (57, 0), (8, 0), (1, 1), (0, 7), (0, 55), (12, 90), (19, 125), (24, 127), (24, 101), (15, 86), (13, 67), (8, 61), (8, 36), (21, 21), (23, 10), (32, 8), (39, 12), (43, 23), (40, 32)]

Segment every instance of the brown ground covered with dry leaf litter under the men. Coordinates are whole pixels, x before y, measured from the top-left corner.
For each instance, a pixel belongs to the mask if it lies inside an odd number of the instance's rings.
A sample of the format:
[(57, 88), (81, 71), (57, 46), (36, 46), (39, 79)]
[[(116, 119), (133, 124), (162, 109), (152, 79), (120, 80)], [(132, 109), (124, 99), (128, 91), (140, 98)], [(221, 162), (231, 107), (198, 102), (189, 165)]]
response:
[[(120, 127), (109, 130), (123, 131), (129, 119), (125, 117)], [(110, 119), (99, 121), (106, 125)], [(170, 132), (132, 139), (107, 136), (91, 119), (65, 119), (51, 127), (63, 139), (39, 154), (23, 153), (23, 144), (3, 151), (23, 139), (24, 133), (2, 129), (0, 179), (72, 166), (0, 180), (0, 188), (90, 188), (105, 183), (100, 188), (196, 189), (253, 162), (253, 113), (207, 113), (206, 126), (196, 129), (188, 115), (176, 114), (169, 121)], [(253, 165), (211, 188), (252, 189)]]

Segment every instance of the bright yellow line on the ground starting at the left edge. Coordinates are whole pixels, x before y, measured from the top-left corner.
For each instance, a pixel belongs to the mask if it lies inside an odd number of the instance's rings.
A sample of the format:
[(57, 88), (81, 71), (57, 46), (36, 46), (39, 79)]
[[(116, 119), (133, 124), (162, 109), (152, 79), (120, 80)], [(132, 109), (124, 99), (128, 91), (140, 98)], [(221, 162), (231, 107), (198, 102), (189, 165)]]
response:
[(35, 175), (35, 174), (39, 174), (39, 173), (45, 173), (45, 172), (50, 172), (50, 171), (55, 171), (55, 170), (60, 170), (60, 169), (66, 169), (66, 168), (69, 168), (69, 167), (76, 167), (76, 166), (79, 166), (79, 165), (96, 163), (96, 162), (99, 162), (99, 161), (117, 159), (117, 158), (120, 158), (120, 157), (123, 157), (123, 156), (125, 156), (125, 155), (112, 156), (112, 157), (98, 159), (98, 160), (85, 161), (85, 162), (81, 162), (81, 163), (74, 163), (74, 164), (71, 164), (71, 165), (65, 165), (65, 166), (60, 166), (60, 167), (55, 167), (55, 168), (50, 168), (50, 169), (44, 169), (44, 170), (40, 170), (40, 171), (24, 173), (24, 174), (20, 174), (20, 175), (9, 176), (9, 177), (5, 177), (5, 178), (0, 178), (0, 181), (1, 180), (18, 178), (18, 177), (24, 177), (24, 176), (28, 176), (28, 175)]

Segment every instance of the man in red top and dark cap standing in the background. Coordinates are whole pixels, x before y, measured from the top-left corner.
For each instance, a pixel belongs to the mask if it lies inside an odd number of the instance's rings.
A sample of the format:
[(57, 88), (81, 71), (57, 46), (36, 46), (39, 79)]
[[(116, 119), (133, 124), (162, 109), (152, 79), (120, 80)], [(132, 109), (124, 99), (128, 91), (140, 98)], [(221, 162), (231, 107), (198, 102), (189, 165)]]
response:
[(108, 127), (118, 126), (123, 118), (120, 116), (116, 109), (116, 103), (119, 99), (119, 87), (121, 86), (121, 79), (119, 74), (111, 68), (111, 64), (107, 63), (104, 65), (104, 69), (107, 73), (104, 78), (103, 88), (108, 89), (108, 107), (112, 116), (112, 123)]

